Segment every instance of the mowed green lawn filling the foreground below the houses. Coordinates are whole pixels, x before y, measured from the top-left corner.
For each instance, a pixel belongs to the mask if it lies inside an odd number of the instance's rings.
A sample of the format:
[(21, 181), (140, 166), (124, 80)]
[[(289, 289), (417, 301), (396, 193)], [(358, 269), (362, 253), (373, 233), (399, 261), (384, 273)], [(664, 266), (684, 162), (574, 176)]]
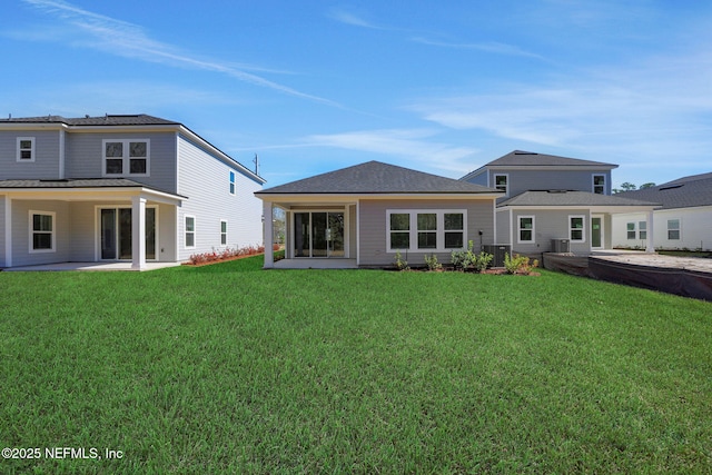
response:
[(712, 471), (710, 303), (261, 263), (0, 273), (0, 472)]

